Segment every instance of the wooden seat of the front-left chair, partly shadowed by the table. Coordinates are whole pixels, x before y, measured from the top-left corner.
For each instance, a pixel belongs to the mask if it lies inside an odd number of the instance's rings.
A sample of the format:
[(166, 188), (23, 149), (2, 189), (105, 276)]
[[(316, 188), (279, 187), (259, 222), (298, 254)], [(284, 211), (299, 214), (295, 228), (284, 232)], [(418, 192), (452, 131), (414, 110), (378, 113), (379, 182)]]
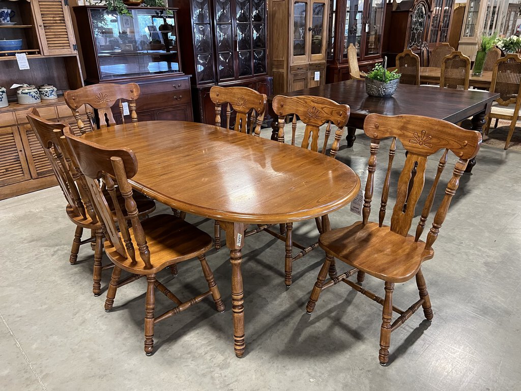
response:
[[(121, 256), (109, 241), (105, 242), (105, 252), (108, 258), (118, 267), (130, 273), (156, 273), (171, 264), (204, 254), (213, 245), (212, 238), (208, 234), (173, 215), (156, 215), (145, 219), (141, 225), (146, 236), (148, 250), (150, 250), (152, 268), (145, 269), (137, 248), (135, 248), (137, 262), (132, 264), (130, 258)], [(136, 243), (132, 228), (129, 230), (132, 242)]]

